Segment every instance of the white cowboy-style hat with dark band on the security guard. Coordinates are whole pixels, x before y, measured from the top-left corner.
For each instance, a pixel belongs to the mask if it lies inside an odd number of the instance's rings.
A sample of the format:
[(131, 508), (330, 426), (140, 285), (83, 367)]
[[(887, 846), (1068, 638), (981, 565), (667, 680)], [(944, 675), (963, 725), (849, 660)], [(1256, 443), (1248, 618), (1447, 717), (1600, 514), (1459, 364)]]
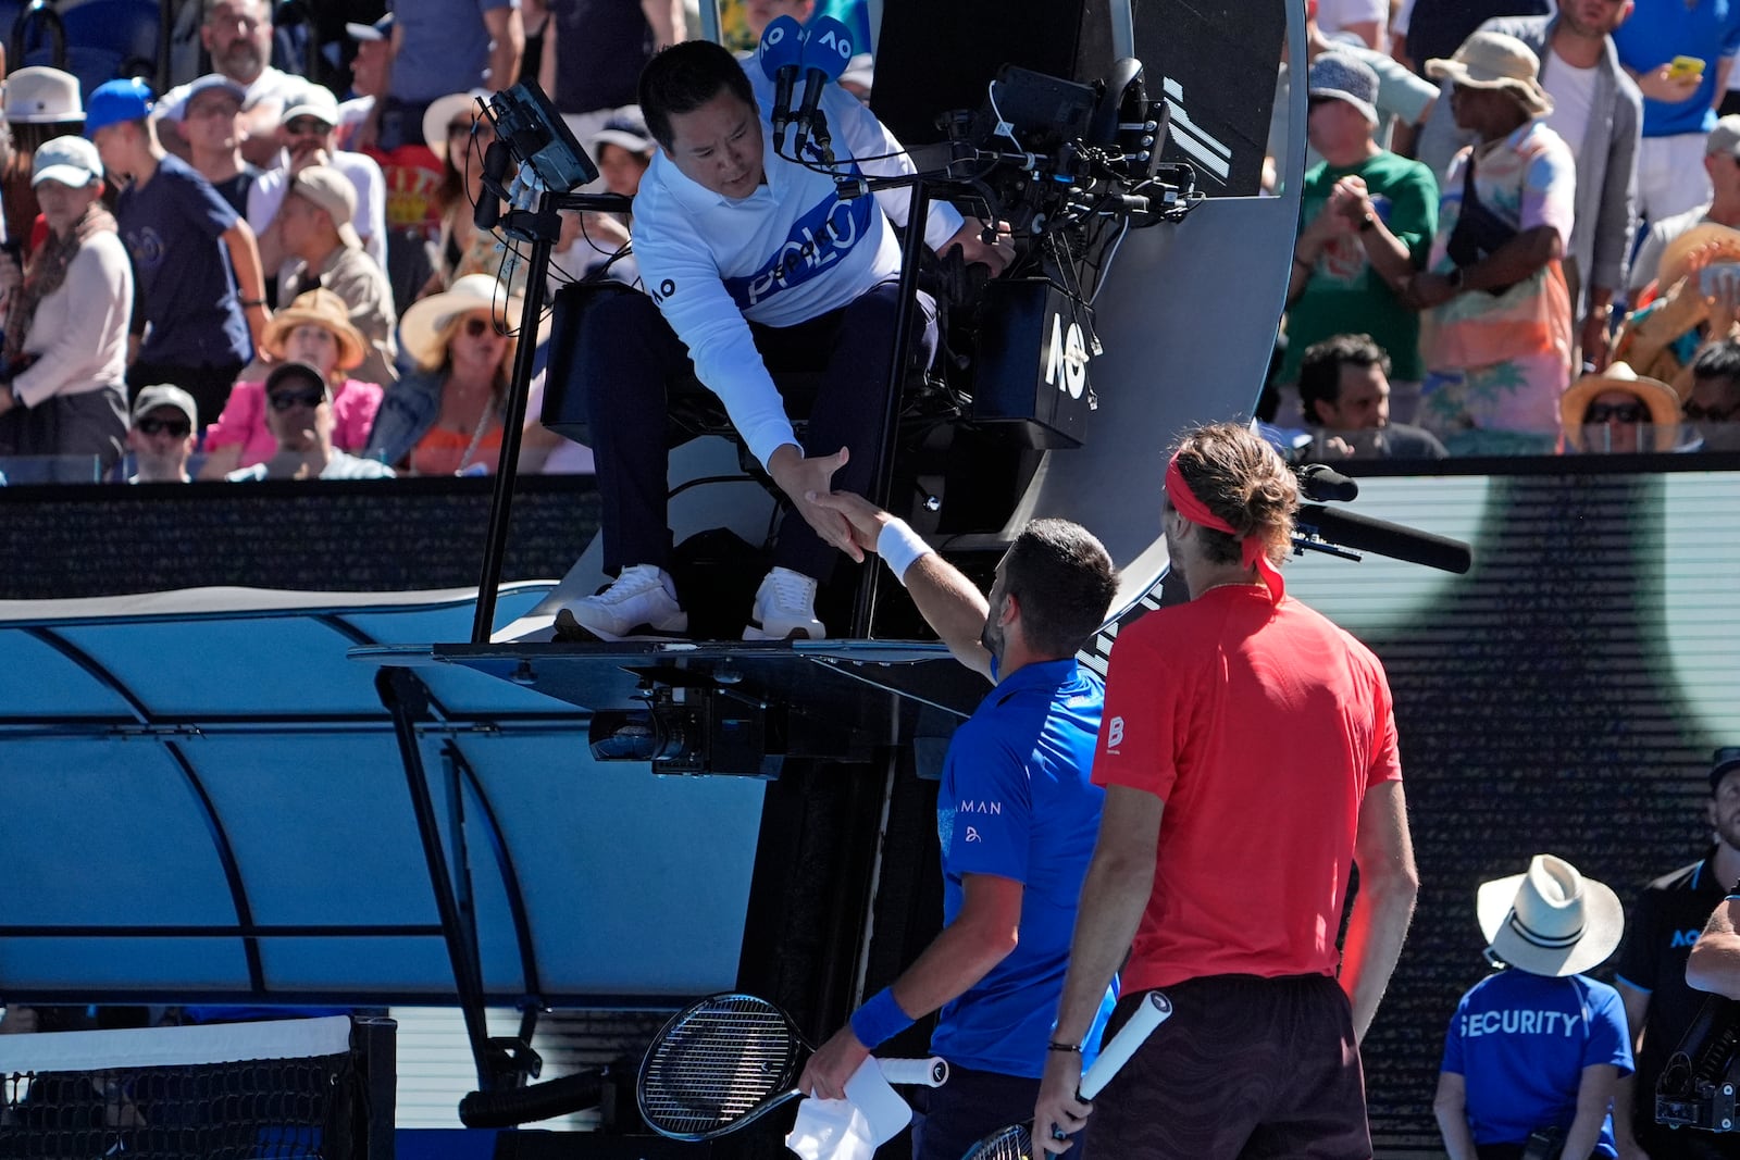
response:
[(1552, 854), (1529, 859), (1528, 873), (1481, 883), (1476, 910), (1493, 955), (1549, 977), (1601, 965), (1625, 934), (1618, 894)]

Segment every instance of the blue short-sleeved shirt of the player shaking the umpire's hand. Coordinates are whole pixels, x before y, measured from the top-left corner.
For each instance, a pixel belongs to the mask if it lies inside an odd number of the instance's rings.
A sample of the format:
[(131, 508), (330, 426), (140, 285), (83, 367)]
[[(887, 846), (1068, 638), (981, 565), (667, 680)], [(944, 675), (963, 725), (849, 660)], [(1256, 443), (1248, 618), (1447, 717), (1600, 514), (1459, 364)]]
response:
[(1063, 993), (1075, 904), (1105, 790), (1089, 781), (1105, 683), (1074, 657), (1025, 664), (955, 730), (936, 795), (943, 922), (964, 875), (1023, 885), (1020, 943), (947, 1003), (931, 1050), (952, 1064), (1037, 1078)]

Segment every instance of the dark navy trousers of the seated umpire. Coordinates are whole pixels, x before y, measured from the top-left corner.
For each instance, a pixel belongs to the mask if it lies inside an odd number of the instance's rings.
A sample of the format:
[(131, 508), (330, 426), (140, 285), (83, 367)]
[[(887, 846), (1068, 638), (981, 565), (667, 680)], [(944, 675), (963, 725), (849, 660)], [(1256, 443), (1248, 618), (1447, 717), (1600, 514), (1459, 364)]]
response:
[[(837, 490), (867, 492), (887, 400), (898, 287), (882, 282), (849, 306), (793, 327), (750, 323), (767, 370), (823, 370), (825, 384), (809, 412), (804, 454), (851, 450), (833, 475)], [(915, 358), (936, 351), (936, 310), (919, 297)], [(581, 376), (586, 421), (602, 499), (604, 569), (635, 563), (668, 567), (666, 515), (670, 435), (666, 384), (693, 374), (689, 351), (651, 297), (619, 294), (592, 306), (581, 322), (574, 374)], [(773, 562), (826, 581), (840, 551), (792, 515), (781, 522)]]

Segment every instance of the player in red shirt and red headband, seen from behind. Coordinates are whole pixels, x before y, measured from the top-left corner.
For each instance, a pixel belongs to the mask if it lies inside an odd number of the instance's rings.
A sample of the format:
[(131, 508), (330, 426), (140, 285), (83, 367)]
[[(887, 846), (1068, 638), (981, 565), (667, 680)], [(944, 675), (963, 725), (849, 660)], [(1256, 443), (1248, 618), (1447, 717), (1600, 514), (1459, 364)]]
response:
[[(1293, 473), (1248, 428), (1188, 431), (1166, 471), (1190, 600), (1112, 650), (1105, 812), (1035, 1108), (1047, 1151), (1068, 1146), (1054, 1125), (1086, 1120), (1089, 1155), (1128, 1160), (1371, 1155), (1359, 1040), (1418, 877), (1383, 668), (1277, 570), (1296, 508)], [(1070, 1045), (1126, 951), (1108, 1033), (1152, 988), (1174, 1014), (1086, 1104)]]

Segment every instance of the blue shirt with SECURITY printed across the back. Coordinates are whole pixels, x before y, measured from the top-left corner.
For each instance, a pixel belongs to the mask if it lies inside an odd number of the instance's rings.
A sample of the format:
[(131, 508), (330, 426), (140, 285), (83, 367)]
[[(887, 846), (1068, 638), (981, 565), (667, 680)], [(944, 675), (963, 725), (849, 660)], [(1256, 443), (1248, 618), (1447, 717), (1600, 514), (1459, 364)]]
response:
[[(1540, 1127), (1571, 1127), (1583, 1068), (1610, 1063), (1632, 1073), (1625, 1005), (1606, 983), (1509, 969), (1462, 997), (1444, 1037), (1444, 1071), (1469, 1085), (1476, 1144), (1521, 1144)], [(1615, 1157), (1613, 1117), (1597, 1157)]]

